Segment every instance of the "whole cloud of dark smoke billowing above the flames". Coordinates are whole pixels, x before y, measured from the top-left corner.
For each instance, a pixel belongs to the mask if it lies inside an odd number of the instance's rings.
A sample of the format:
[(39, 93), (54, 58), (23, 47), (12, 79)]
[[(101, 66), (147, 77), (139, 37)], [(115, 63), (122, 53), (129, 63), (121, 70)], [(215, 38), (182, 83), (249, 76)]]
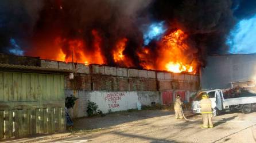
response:
[[(108, 64), (114, 65), (109, 52), (126, 37), (124, 54), (139, 67), (136, 50), (143, 46), (143, 25), (165, 21), (168, 29), (179, 28), (189, 35), (189, 55), (196, 55), (204, 65), (206, 55), (227, 53), (228, 33), (240, 19), (256, 13), (255, 4), (245, 0), (2, 0), (0, 52), (10, 52), (13, 38), (25, 54), (34, 55), (44, 45), (51, 46), (57, 36), (83, 39), (86, 50), (93, 51), (95, 29)], [(65, 53), (71, 53), (65, 45)]]

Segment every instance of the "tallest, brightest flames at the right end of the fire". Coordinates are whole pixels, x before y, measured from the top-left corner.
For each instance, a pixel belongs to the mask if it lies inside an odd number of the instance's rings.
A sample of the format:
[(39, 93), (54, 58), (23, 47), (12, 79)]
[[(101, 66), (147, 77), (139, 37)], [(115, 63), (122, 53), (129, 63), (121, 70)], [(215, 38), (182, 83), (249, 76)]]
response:
[(187, 34), (180, 29), (165, 35), (159, 43), (156, 61), (150, 58), (152, 51), (144, 47), (138, 51), (138, 56), (142, 61), (141, 66), (145, 69), (167, 70), (173, 73), (196, 73), (196, 61), (189, 59), (186, 55), (189, 49), (184, 42), (186, 38)]

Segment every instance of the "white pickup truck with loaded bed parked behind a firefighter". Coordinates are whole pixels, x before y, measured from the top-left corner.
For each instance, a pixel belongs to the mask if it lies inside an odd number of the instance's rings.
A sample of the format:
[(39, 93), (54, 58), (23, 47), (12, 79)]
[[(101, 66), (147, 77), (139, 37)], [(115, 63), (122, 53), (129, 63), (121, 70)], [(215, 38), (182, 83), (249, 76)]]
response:
[(243, 113), (251, 113), (253, 109), (256, 109), (256, 94), (255, 93), (243, 93), (242, 96), (228, 96), (225, 90), (215, 89), (200, 92), (192, 101), (193, 113), (200, 113), (200, 100), (204, 93), (208, 93), (210, 100), (212, 101), (212, 109), (214, 115), (218, 115), (220, 112), (229, 112), (231, 110), (239, 110)]

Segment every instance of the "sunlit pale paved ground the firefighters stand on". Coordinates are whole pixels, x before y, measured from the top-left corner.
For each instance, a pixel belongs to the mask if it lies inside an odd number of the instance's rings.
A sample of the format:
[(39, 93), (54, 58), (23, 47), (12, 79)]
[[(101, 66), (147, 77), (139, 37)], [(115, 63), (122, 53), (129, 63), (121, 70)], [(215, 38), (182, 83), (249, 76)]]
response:
[[(77, 120), (80, 132), (28, 142), (256, 142), (255, 117), (255, 112), (228, 113), (214, 117), (214, 128), (201, 129), (200, 115), (186, 121), (159, 110), (110, 114)], [(85, 128), (98, 129), (84, 132)]]

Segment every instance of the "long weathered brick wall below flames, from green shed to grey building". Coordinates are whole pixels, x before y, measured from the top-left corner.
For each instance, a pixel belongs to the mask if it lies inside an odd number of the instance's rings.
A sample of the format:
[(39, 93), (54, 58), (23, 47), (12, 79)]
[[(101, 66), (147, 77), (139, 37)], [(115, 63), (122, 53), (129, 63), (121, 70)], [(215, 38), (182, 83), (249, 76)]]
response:
[[(65, 65), (63, 63), (58, 64)], [(65, 65), (65, 68), (69, 68), (69, 66)], [(65, 96), (73, 94), (79, 98), (75, 107), (69, 110), (72, 118), (87, 116), (88, 100), (94, 100), (97, 105), (100, 105), (100, 110), (107, 112), (108, 104), (106, 105), (104, 101), (106, 93), (124, 92), (127, 94), (127, 101), (122, 101), (119, 109), (115, 109), (118, 111), (136, 108), (137, 101), (141, 102), (142, 105), (151, 105), (152, 102), (163, 104), (162, 96), (164, 93), (165, 96), (172, 94), (172, 99), (168, 98), (172, 100), (170, 102), (174, 101), (177, 92), (184, 93), (185, 99), (189, 100), (189, 97), (199, 89), (199, 76), (192, 74), (103, 65), (81, 66), (83, 68), (74, 75), (73, 80), (69, 80), (69, 76), (65, 76)]]

